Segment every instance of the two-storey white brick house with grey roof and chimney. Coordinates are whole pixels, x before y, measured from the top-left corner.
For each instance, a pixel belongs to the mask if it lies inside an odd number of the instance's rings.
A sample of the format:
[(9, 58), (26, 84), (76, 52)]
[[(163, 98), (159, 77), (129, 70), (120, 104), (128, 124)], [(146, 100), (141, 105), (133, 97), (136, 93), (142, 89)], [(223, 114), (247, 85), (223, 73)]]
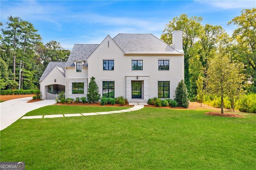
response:
[(75, 44), (67, 62), (50, 62), (40, 81), (43, 99), (65, 92), (83, 97), (93, 76), (101, 96), (132, 99), (173, 98), (184, 80), (182, 31), (169, 46), (152, 34), (109, 35), (100, 44)]

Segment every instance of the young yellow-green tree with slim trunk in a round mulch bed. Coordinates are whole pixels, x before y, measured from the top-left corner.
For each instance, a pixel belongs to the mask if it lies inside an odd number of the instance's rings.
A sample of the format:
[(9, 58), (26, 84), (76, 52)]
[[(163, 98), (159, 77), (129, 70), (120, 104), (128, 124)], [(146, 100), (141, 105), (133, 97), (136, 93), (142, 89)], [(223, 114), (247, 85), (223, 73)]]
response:
[(238, 92), (242, 86), (243, 64), (231, 62), (225, 56), (216, 56), (209, 60), (207, 70), (207, 90), (210, 94), (221, 97), (221, 113), (223, 114), (223, 98)]

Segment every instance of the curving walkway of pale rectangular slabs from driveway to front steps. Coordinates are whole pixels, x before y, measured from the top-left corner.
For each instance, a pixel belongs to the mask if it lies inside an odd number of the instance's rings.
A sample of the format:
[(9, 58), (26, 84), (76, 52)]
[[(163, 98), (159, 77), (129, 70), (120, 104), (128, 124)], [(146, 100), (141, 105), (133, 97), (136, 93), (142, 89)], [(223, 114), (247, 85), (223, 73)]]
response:
[[(144, 105), (134, 105), (134, 107), (124, 110), (117, 111), (109, 111), (109, 112), (95, 112), (95, 113), (76, 113), (76, 114), (64, 114), (65, 117), (72, 116), (91, 116), (91, 115), (100, 115), (100, 114), (113, 114), (113, 113), (124, 113), (124, 112), (132, 112), (136, 110), (140, 110), (144, 107)], [(64, 117), (63, 114), (52, 114), (52, 115), (40, 115), (40, 116), (24, 116), (21, 119), (42, 119), (42, 118), (58, 118)]]

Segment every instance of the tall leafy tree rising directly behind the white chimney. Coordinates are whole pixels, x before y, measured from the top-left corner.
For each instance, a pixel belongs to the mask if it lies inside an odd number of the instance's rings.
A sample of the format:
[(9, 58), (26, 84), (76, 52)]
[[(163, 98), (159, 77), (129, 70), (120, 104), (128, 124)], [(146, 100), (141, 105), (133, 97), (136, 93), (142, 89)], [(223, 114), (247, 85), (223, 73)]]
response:
[(202, 17), (188, 17), (187, 14), (181, 14), (180, 17), (174, 17), (169, 24), (166, 24), (161, 39), (171, 45), (172, 32), (183, 31), (183, 51), (184, 51), (184, 78), (185, 83), (190, 93), (190, 73), (189, 73), (189, 58), (193, 57), (197, 50), (194, 45), (196, 40), (201, 36), (203, 26), (201, 25)]

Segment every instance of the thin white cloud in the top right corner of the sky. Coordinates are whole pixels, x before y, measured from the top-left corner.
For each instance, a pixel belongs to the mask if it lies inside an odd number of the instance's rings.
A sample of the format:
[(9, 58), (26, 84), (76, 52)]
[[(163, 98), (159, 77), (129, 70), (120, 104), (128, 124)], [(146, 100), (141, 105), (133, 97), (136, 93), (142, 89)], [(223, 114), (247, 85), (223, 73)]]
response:
[(256, 7), (256, 1), (236, 1), (236, 0), (228, 0), (228, 1), (198, 1), (201, 4), (208, 4), (214, 7), (218, 7), (221, 9), (234, 9), (234, 8), (255, 8)]

